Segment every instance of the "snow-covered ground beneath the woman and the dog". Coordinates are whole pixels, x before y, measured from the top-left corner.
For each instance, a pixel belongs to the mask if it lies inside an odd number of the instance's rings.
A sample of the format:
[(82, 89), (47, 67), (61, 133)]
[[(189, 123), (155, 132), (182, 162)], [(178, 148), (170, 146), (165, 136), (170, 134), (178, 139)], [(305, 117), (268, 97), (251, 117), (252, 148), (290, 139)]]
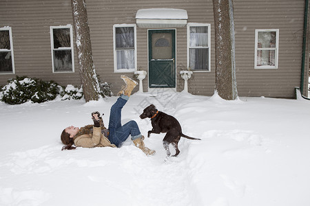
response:
[(174, 115), (183, 133), (180, 155), (164, 161), (162, 139), (121, 148), (61, 151), (66, 126), (91, 124), (116, 97), (97, 102), (0, 103), (0, 205), (309, 206), (310, 102), (273, 98), (225, 101), (186, 93), (134, 94), (123, 122), (149, 104)]

